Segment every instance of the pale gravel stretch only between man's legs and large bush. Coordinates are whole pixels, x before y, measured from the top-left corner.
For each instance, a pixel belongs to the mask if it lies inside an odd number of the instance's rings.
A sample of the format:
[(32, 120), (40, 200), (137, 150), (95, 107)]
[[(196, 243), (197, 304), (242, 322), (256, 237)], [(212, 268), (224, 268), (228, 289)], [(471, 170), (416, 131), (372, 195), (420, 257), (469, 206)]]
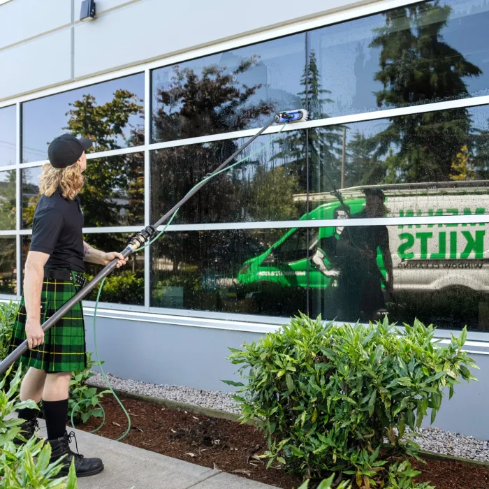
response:
[[(184, 402), (186, 404), (193, 404), (194, 406), (240, 414), (238, 404), (233, 400), (233, 396), (229, 393), (201, 391), (200, 389), (183, 386), (158, 386), (156, 384), (147, 384), (146, 382), (138, 380), (121, 379), (111, 374), (108, 374), (107, 377), (112, 388), (119, 391), (149, 395), (149, 397), (156, 397), (158, 399)], [(102, 375), (98, 373), (89, 379), (88, 384), (102, 388), (106, 387)]]

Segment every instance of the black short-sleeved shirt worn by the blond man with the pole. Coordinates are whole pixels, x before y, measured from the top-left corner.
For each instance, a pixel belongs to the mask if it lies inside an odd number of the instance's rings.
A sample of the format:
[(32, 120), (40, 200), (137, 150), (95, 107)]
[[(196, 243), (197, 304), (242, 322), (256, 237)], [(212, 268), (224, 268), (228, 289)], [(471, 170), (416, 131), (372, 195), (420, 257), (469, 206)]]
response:
[(83, 263), (83, 212), (80, 198), (64, 198), (61, 190), (41, 196), (34, 212), (31, 251), (50, 255), (47, 268), (85, 272)]

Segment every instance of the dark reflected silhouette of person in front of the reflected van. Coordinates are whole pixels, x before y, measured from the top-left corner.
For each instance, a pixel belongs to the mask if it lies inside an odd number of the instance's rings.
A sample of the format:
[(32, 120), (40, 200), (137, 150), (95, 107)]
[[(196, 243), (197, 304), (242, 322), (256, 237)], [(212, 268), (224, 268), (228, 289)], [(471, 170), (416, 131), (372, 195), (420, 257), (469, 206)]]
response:
[[(384, 192), (365, 189), (365, 208), (351, 219), (379, 218), (386, 214)], [(375, 321), (379, 309), (385, 307), (381, 275), (377, 265), (380, 249), (387, 271), (386, 287), (393, 292), (393, 265), (386, 226), (345, 227), (337, 242), (340, 277), (338, 319), (341, 321)]]

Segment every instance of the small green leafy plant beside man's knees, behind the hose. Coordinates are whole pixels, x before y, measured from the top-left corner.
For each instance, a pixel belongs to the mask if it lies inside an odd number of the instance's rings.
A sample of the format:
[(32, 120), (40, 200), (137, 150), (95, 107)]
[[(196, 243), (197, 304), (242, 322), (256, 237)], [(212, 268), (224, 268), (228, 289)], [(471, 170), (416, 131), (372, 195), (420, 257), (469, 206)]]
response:
[(78, 423), (87, 423), (92, 417), (103, 417), (103, 410), (98, 407), (98, 404), (103, 395), (110, 393), (110, 391), (97, 393), (96, 387), (87, 386), (88, 379), (95, 375), (92, 372), (92, 367), (95, 365), (98, 365), (98, 362), (94, 362), (92, 353), (87, 352), (87, 368), (83, 372), (73, 374), (73, 378), (70, 381), (68, 418), (73, 415), (73, 421)]

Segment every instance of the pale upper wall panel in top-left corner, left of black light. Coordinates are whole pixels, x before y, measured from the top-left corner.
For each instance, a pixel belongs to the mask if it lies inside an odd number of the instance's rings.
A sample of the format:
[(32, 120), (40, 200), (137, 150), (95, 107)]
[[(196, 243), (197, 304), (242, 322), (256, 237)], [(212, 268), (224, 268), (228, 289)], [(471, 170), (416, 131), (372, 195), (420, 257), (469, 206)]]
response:
[(0, 48), (71, 22), (69, 0), (15, 0), (0, 6)]

